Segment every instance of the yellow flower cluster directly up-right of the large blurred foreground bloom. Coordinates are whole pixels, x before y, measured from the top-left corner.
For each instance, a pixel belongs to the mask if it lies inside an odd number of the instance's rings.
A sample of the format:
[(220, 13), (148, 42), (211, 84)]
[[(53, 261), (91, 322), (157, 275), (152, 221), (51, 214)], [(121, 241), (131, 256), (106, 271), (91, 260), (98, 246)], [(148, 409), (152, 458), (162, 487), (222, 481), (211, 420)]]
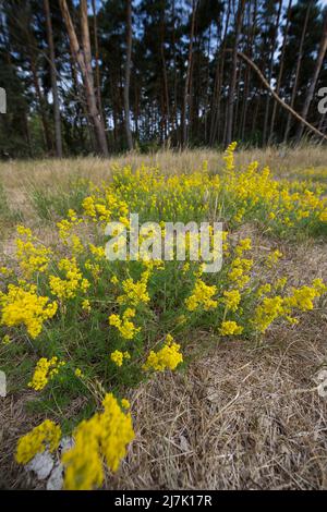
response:
[(143, 369), (164, 371), (166, 368), (175, 369), (183, 362), (181, 346), (174, 343), (171, 334), (167, 334), (166, 343), (158, 352), (150, 351)]

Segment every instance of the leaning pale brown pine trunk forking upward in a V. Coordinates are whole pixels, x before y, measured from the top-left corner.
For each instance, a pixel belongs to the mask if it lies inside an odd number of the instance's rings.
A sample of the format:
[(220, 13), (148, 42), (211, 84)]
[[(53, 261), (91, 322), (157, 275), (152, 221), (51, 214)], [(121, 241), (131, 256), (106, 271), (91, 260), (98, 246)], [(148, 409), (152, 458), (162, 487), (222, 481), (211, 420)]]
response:
[(108, 153), (107, 138), (106, 138), (106, 131), (101, 123), (100, 114), (97, 108), (95, 87), (94, 87), (94, 76), (93, 76), (93, 69), (92, 69), (92, 52), (90, 52), (90, 41), (89, 41), (88, 19), (87, 19), (87, 1), (81, 0), (82, 48), (80, 46), (76, 32), (75, 32), (75, 28), (74, 28), (69, 9), (68, 9), (66, 0), (59, 0), (59, 3), (60, 3), (63, 20), (66, 26), (68, 35), (70, 38), (72, 53), (82, 73), (88, 113), (93, 122), (93, 125), (95, 127), (97, 142), (98, 142), (101, 154), (105, 157), (108, 157), (109, 153)]

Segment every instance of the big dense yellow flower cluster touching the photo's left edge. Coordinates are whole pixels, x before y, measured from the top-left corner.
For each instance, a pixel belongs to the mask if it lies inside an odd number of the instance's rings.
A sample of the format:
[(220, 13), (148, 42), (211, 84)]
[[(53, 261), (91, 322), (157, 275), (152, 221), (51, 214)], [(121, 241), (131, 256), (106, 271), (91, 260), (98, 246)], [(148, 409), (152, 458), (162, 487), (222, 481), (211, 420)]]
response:
[(1, 325), (15, 327), (24, 325), (32, 338), (37, 338), (44, 322), (56, 315), (58, 304), (49, 297), (36, 294), (36, 285), (26, 290), (9, 284), (8, 293), (0, 292)]

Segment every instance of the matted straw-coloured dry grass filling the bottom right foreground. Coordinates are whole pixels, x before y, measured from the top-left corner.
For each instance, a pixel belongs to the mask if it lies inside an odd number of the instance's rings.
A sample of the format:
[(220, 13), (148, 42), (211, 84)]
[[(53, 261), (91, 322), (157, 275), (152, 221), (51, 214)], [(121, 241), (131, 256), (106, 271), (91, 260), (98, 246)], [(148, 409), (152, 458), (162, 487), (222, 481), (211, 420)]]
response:
[[(326, 328), (326, 321), (325, 321)], [(238, 342), (161, 375), (133, 400), (137, 439), (116, 489), (326, 489), (327, 363), (322, 326)]]

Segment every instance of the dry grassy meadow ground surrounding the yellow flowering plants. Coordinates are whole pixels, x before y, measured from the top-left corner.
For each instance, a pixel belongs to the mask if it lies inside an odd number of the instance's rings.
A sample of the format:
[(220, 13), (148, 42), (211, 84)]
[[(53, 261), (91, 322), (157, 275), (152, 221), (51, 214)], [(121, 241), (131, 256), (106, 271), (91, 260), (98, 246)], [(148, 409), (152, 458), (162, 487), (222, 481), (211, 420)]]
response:
[[(110, 180), (112, 163), (159, 166), (165, 174), (192, 172), (207, 161), (209, 172), (222, 169), (222, 155), (194, 150), (126, 155), (112, 161), (9, 161), (0, 163), (0, 258), (14, 253), (14, 227), (24, 223), (44, 242), (56, 244), (55, 214), (64, 215), (83, 199), (80, 178), (95, 184)], [(327, 190), (327, 150), (247, 150), (235, 155), (237, 168), (258, 160), (278, 181), (307, 181)], [(53, 204), (55, 214), (53, 214)], [(278, 248), (283, 254), (277, 277), (294, 287), (327, 277), (324, 236), (279, 239), (244, 221), (235, 228), (250, 236), (254, 251)], [(189, 333), (189, 350), (199, 353), (182, 371), (156, 374), (130, 390), (135, 429), (114, 476), (105, 486), (114, 489), (326, 489), (327, 399), (317, 392), (318, 375), (327, 368), (326, 301), (299, 325), (277, 325), (264, 342), (226, 339), (201, 326)], [(207, 346), (207, 350), (203, 350)], [(199, 350), (199, 348), (202, 348)], [(0, 349), (0, 368), (5, 352)], [(22, 354), (17, 365), (22, 366)], [(14, 362), (13, 362), (14, 365)], [(44, 419), (28, 403), (34, 392), (17, 382), (0, 410), (0, 487), (41, 488), (14, 461), (20, 436)], [(10, 379), (10, 376), (9, 376)], [(73, 416), (83, 397), (70, 404)], [(60, 407), (59, 407), (60, 409)], [(51, 415), (51, 411), (50, 411)]]

